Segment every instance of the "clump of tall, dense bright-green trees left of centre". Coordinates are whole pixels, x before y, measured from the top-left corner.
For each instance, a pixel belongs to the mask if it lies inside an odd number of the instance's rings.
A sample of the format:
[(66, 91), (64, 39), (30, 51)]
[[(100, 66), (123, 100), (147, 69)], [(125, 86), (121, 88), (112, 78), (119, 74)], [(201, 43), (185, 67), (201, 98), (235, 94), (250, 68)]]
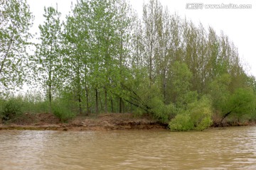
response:
[(75, 92), (80, 113), (83, 103), (87, 105), (87, 113), (92, 106), (95, 106), (95, 113), (107, 113), (108, 101), (114, 111), (113, 98), (121, 89), (129, 54), (131, 18), (127, 13), (129, 6), (125, 1), (80, 0), (67, 17), (63, 60), (67, 73), (65, 82), (71, 87), (70, 91)]

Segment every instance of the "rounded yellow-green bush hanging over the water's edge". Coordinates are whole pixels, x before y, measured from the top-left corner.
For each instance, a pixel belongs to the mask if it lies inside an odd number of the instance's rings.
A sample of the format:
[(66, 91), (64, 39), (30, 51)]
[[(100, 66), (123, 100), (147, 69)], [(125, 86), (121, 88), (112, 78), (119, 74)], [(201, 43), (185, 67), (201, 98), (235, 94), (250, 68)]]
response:
[(212, 125), (212, 110), (209, 98), (203, 96), (199, 101), (188, 105), (188, 109), (179, 113), (169, 122), (169, 128), (174, 131), (205, 130)]

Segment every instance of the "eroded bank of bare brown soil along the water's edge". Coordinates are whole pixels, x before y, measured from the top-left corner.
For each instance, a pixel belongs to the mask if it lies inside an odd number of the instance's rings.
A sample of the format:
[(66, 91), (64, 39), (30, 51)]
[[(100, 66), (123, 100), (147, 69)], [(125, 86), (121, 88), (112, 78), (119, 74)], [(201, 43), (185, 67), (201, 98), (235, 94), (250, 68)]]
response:
[(26, 113), (12, 123), (0, 123), (0, 130), (150, 130), (166, 129), (166, 125), (149, 116), (135, 118), (130, 113), (109, 113), (94, 116), (77, 116), (61, 123), (51, 113)]

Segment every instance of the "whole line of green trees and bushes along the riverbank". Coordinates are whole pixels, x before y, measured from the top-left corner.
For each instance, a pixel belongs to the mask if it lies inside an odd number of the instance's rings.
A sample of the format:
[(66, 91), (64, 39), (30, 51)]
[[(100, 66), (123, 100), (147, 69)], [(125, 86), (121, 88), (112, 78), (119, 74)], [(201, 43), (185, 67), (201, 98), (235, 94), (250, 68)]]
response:
[(228, 36), (157, 0), (143, 5), (142, 18), (124, 0), (78, 0), (65, 21), (44, 7), (38, 43), (29, 42), (26, 0), (0, 6), (2, 94), (28, 81), (44, 91), (31, 102), (56, 115), (147, 113), (173, 130), (256, 118), (255, 77)]

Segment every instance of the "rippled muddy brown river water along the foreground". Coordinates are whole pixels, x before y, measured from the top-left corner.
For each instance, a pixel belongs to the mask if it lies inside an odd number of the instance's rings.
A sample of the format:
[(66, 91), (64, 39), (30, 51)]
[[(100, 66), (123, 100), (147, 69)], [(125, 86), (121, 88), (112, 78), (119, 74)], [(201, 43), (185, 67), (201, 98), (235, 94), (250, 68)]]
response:
[(256, 169), (256, 127), (0, 130), (0, 169)]

